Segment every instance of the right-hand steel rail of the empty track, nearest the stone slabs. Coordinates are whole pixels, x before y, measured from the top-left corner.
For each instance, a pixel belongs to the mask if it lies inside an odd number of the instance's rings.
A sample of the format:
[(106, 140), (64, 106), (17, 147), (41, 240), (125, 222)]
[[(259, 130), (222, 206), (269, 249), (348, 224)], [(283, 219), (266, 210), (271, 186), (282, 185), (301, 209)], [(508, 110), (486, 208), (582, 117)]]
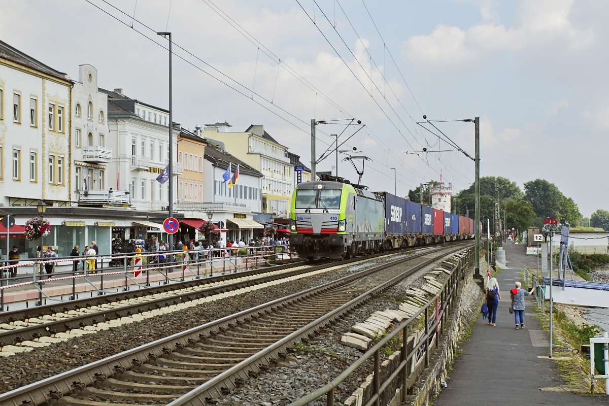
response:
[[(453, 248), (443, 256), (428, 259), (427, 261), (415, 265), (414, 267), (409, 268), (408, 270), (400, 273), (399, 275), (394, 276), (388, 281), (385, 281), (382, 284), (373, 287), (367, 292), (362, 293), (362, 295), (357, 296), (357, 298), (354, 298), (351, 301), (343, 304), (342, 306), (337, 307), (337, 309), (326, 313), (317, 320), (307, 324), (305, 327), (298, 329), (292, 334), (287, 335), (279, 341), (276, 341), (276, 343), (268, 346), (266, 349), (252, 355), (248, 359), (243, 360), (242, 362), (238, 363), (237, 365), (234, 365), (230, 369), (227, 369), (227, 371), (208, 380), (208, 382), (203, 383), (203, 385), (200, 385), (194, 390), (184, 394), (183, 396), (180, 396), (178, 399), (169, 403), (167, 406), (203, 406), (207, 404), (207, 401), (213, 398), (228, 394), (231, 389), (237, 387), (237, 383), (235, 382), (236, 379), (247, 380), (250, 376), (250, 373), (253, 372), (257, 374), (259, 371), (261, 371), (262, 365), (269, 365), (271, 360), (280, 357), (281, 354), (284, 354), (284, 352), (286, 352), (288, 348), (292, 348), (298, 341), (301, 341), (303, 340), (303, 338), (311, 336), (312, 334), (314, 334), (315, 331), (332, 323), (334, 320), (340, 318), (343, 314), (349, 312), (354, 307), (359, 306), (359, 304), (364, 303), (370, 298), (369, 296), (372, 293), (388, 289), (391, 285), (401, 281), (407, 276), (412, 275), (421, 268), (424, 268), (429, 264), (438, 261), (438, 259), (441, 259), (442, 257), (449, 256), (461, 250), (463, 250), (463, 247)], [(393, 265), (397, 265), (401, 262), (404, 261), (392, 261), (388, 264), (381, 265), (381, 267), (384, 269), (387, 267), (392, 267)]]

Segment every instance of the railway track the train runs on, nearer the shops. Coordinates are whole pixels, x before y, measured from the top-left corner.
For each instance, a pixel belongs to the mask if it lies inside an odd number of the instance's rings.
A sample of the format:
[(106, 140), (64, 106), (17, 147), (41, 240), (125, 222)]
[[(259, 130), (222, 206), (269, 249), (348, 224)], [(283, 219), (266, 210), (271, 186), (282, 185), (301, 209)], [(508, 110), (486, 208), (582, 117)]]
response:
[[(405, 251), (410, 250), (412, 249)], [(106, 329), (111, 327), (109, 324), (111, 321), (129, 322), (133, 321), (130, 318), (142, 313), (158, 312), (169, 306), (190, 303), (208, 296), (297, 275), (306, 275), (338, 264), (347, 265), (382, 255), (387, 254), (359, 257), (342, 262), (325, 262), (320, 265), (302, 263), (280, 265), (272, 269), (242, 271), (186, 281), (180, 284), (178, 289), (175, 289), (175, 285), (172, 290), (168, 290), (166, 287), (164, 289), (163, 287), (153, 287), (146, 290), (114, 293), (32, 309), (3, 312), (0, 313), (0, 346), (12, 346), (7, 350), (9, 354), (11, 349), (13, 352), (18, 352), (23, 351), (23, 348), (46, 346), (48, 345), (46, 343), (64, 340), (70, 335), (82, 335), (97, 329)], [(16, 345), (19, 345), (20, 348), (15, 348)]]

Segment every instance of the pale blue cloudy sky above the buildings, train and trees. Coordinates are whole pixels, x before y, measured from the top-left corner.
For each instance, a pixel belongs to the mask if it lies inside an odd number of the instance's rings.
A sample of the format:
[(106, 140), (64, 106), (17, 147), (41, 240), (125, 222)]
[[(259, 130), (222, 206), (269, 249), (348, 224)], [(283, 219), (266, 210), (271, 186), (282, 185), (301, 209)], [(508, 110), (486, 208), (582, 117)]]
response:
[[(398, 195), (440, 174), (470, 186), (473, 161), (439, 131), (473, 156), (460, 120), (479, 116), (481, 176), (544, 178), (590, 216), (609, 209), (608, 12), (602, 0), (0, 0), (0, 39), (74, 80), (90, 63), (100, 86), (167, 108), (155, 32), (171, 31), (174, 121), (263, 124), (307, 166), (311, 119), (332, 122), (316, 127), (317, 159), (340, 135), (339, 150), (370, 158), (373, 191), (393, 192), (392, 168)], [(347, 156), (339, 175), (357, 181)]]

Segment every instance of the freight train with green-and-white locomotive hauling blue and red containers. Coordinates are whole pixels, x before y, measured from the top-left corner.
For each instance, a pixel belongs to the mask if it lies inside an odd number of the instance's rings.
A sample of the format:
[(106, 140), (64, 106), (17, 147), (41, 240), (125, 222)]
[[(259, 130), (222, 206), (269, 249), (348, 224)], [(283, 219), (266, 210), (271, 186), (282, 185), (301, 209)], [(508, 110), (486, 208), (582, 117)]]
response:
[(290, 245), (308, 259), (348, 259), (390, 248), (471, 239), (474, 220), (348, 181), (298, 184)]

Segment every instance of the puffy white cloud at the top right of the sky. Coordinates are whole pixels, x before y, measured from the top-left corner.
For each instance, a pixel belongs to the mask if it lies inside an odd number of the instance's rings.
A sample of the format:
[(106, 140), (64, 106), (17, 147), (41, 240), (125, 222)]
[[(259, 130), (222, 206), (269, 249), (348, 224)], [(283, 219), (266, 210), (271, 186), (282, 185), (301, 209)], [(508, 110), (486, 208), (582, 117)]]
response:
[(496, 24), (493, 3), (481, 1), (484, 23), (463, 30), (439, 24), (428, 35), (410, 37), (404, 52), (424, 65), (459, 68), (468, 66), (491, 51), (518, 51), (530, 47), (556, 46), (579, 49), (594, 43), (591, 29), (577, 29), (571, 23), (572, 0), (521, 0), (518, 25)]

